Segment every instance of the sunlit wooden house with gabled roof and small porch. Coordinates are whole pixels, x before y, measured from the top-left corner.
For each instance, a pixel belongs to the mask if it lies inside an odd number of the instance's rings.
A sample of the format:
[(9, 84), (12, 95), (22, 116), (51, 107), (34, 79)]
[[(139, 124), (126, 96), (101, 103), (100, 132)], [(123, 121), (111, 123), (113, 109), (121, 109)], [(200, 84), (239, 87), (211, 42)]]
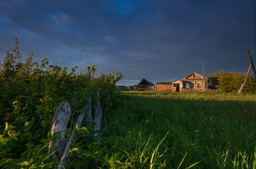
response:
[(207, 89), (208, 78), (195, 71), (181, 80), (173, 81), (173, 92), (206, 92)]

